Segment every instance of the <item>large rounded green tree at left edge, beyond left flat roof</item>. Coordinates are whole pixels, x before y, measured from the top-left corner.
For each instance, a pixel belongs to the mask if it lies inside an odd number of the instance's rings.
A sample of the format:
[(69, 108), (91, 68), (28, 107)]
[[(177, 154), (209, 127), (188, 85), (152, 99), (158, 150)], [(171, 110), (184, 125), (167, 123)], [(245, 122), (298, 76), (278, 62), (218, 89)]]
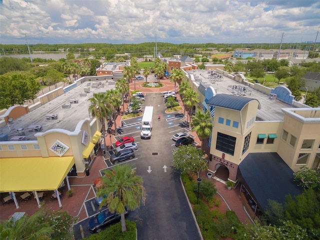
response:
[(0, 75), (0, 108), (23, 105), (24, 101), (33, 100), (40, 89), (40, 83), (32, 75), (17, 72)]

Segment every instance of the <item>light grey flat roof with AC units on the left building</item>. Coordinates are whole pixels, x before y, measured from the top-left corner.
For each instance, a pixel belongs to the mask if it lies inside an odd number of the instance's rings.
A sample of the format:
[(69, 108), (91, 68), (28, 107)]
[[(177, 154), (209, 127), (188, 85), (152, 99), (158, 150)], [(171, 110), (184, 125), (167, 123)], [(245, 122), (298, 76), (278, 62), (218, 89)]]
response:
[[(49, 129), (64, 129), (67, 131), (74, 131), (77, 123), (85, 118), (93, 118), (89, 115), (88, 99), (93, 96), (93, 93), (105, 92), (108, 89), (114, 88), (114, 83), (108, 84), (107, 80), (101, 80), (100, 87), (93, 88), (87, 83), (93, 83), (95, 81), (86, 81), (82, 84), (74, 87), (73, 89), (65, 92), (64, 94), (52, 99), (51, 101), (41, 105), (40, 107), (30, 111), (29, 113), (20, 116), (19, 118), (11, 121), (9, 126), (3, 125), (0, 127), (1, 134), (7, 134), (8, 140), (18, 136), (18, 130), (25, 134), (23, 140), (37, 140), (34, 136), (36, 131), (29, 131), (30, 126), (41, 125), (41, 132)], [(86, 93), (86, 96), (80, 96), (80, 93), (84, 93), (84, 87), (90, 87), (90, 91)], [(69, 100), (77, 99), (78, 103), (69, 103)], [(70, 108), (62, 108), (62, 104), (70, 104)], [(56, 119), (46, 119), (48, 114), (57, 114)], [(19, 140), (19, 143), (23, 143), (23, 140)], [(0, 143), (7, 144), (7, 141), (1, 141)]]

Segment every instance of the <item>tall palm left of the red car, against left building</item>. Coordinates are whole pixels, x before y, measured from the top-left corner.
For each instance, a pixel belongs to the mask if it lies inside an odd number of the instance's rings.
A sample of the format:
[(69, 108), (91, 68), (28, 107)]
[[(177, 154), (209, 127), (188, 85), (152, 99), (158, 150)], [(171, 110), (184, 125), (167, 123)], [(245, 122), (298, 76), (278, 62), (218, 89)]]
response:
[(112, 116), (113, 105), (108, 101), (106, 94), (102, 92), (93, 93), (93, 96), (88, 99), (90, 105), (88, 107), (91, 116), (96, 117), (102, 128), (104, 145), (106, 147), (105, 141), (105, 123), (108, 116)]

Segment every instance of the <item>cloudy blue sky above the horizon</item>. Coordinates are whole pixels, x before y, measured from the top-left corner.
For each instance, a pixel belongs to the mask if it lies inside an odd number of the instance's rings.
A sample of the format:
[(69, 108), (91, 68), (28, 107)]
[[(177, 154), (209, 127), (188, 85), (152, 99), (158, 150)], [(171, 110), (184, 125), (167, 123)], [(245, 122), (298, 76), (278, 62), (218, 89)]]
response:
[(0, 0), (2, 44), (306, 42), (319, 30), (319, 0)]

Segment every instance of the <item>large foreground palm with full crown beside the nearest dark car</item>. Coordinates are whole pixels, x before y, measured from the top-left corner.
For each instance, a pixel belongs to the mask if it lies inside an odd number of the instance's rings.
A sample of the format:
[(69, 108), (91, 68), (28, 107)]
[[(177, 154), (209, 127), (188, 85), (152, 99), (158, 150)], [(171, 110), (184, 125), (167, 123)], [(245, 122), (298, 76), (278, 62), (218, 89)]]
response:
[[(113, 172), (112, 172), (113, 171)], [(102, 186), (97, 191), (97, 196), (102, 198), (100, 208), (107, 204), (111, 212), (121, 215), (121, 230), (126, 231), (124, 212), (134, 210), (140, 206), (140, 201), (145, 202), (145, 192), (142, 177), (136, 175), (132, 164), (118, 164), (111, 170), (104, 170), (106, 176), (102, 177)]]

